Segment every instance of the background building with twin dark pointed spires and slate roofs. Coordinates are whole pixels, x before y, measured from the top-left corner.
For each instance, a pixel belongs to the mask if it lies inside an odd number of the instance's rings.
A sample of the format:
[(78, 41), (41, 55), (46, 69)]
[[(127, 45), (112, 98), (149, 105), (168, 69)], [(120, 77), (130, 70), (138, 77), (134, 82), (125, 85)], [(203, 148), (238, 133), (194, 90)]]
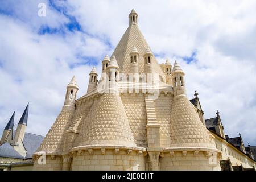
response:
[(14, 130), (15, 111), (0, 140), (0, 170), (32, 170), (32, 154), (43, 141), (43, 136), (26, 132), (28, 105)]

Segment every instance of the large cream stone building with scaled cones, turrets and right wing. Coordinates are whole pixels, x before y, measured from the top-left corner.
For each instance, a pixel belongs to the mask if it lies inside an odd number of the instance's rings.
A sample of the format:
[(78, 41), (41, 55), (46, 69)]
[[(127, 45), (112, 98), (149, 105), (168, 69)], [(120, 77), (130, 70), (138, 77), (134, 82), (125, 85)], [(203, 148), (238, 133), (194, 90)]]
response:
[[(76, 98), (75, 76), (69, 82), (33, 155), (34, 170), (255, 169), (254, 159), (225, 139), (219, 115), (204, 120), (197, 93), (189, 101), (185, 86), (176, 61), (158, 64), (133, 9), (113, 55), (102, 60), (101, 77), (90, 72), (87, 93)], [(239, 153), (237, 165), (224, 148)]]

